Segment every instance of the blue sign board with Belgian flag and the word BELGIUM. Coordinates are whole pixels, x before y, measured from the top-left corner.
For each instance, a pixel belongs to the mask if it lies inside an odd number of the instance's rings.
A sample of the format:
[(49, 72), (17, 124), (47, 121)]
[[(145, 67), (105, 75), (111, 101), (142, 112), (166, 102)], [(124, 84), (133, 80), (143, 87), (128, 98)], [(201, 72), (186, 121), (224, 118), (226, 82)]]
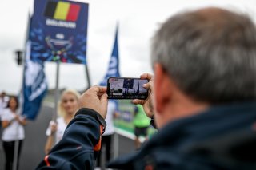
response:
[(31, 60), (86, 64), (88, 7), (82, 2), (34, 0)]

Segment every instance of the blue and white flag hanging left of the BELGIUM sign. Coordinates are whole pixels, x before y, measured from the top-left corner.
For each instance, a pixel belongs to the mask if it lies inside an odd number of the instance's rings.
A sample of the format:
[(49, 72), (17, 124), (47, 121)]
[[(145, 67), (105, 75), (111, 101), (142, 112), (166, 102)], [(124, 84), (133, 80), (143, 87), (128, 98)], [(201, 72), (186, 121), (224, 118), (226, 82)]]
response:
[(31, 42), (26, 42), (26, 58), (22, 84), (22, 115), (34, 120), (47, 92), (43, 63), (30, 60)]

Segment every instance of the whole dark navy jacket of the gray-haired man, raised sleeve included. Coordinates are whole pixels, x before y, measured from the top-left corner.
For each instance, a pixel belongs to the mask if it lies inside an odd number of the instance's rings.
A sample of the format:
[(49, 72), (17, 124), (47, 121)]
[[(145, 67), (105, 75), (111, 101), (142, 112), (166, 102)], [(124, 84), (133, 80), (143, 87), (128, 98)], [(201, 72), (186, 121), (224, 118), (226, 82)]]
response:
[[(256, 103), (222, 105), (171, 122), (142, 149), (110, 162), (119, 169), (256, 169)], [(89, 115), (70, 122), (38, 169), (94, 169), (100, 132)], [(50, 165), (47, 167), (47, 164)]]

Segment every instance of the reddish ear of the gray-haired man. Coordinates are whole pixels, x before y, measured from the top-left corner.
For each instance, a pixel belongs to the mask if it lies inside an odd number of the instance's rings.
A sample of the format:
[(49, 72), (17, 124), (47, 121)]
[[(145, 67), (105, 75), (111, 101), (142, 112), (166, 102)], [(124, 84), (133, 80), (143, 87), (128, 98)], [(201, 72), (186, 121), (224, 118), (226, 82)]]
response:
[(155, 109), (162, 113), (171, 100), (170, 76), (159, 63), (154, 64), (154, 97)]

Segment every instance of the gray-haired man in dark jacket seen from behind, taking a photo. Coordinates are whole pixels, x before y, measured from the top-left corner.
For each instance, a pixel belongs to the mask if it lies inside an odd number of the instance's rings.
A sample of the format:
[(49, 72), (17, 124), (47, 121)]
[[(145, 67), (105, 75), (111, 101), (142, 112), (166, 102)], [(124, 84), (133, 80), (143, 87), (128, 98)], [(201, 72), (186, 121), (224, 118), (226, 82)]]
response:
[[(150, 97), (134, 104), (144, 106), (159, 132), (139, 152), (108, 166), (256, 169), (256, 28), (250, 18), (214, 7), (176, 14), (154, 35), (151, 56), (154, 78), (141, 76), (150, 80), (144, 85)], [(61, 160), (65, 169), (94, 167), (85, 149), (95, 153), (99, 126), (104, 125), (98, 116), (106, 117), (105, 92), (94, 86), (82, 95), (64, 140), (41, 168), (46, 163), (63, 168), (56, 165)], [(92, 126), (92, 121), (98, 124)], [(72, 145), (83, 149), (74, 155)], [(70, 154), (63, 159), (60, 153)]]

